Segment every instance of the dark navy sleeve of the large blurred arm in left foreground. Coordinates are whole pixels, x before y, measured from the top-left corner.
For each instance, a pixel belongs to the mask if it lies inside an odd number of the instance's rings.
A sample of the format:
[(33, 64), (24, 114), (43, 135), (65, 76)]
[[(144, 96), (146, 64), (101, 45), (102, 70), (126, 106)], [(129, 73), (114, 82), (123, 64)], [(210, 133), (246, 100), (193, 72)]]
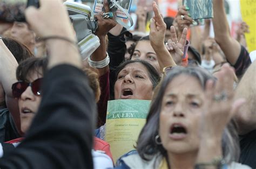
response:
[(58, 65), (45, 75), (38, 113), (16, 151), (1, 168), (93, 168), (95, 98), (85, 74)]

